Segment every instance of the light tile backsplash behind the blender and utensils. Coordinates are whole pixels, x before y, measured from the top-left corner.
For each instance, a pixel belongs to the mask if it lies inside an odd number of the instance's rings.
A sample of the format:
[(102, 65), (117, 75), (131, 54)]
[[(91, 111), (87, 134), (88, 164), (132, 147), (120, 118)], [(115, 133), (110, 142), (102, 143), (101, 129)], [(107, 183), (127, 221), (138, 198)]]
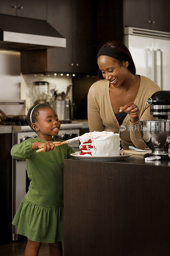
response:
[[(20, 84), (20, 89), (21, 89), (21, 100), (26, 101), (26, 114), (29, 110), (29, 108), (34, 104), (34, 101), (36, 100), (33, 97), (33, 82), (36, 81), (47, 81), (49, 83), (49, 90), (55, 89), (57, 90), (58, 93), (65, 92), (67, 91), (67, 86), (72, 84), (72, 77), (71, 76), (66, 76), (66, 74), (63, 74), (63, 76), (57, 74), (56, 76), (54, 74), (48, 74), (48, 75), (43, 75), (43, 74), (29, 74), (29, 75), (24, 75), (21, 74), (21, 84)], [(72, 103), (72, 89), (68, 93), (68, 97)]]

